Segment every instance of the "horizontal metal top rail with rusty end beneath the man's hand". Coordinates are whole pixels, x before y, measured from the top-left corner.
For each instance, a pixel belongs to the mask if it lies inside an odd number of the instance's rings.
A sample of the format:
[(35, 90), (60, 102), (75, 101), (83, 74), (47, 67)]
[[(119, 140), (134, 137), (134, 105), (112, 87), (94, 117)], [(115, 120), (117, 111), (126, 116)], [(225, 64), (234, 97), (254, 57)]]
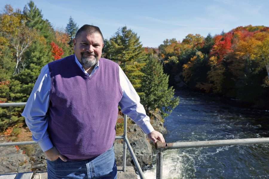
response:
[(249, 145), (269, 143), (269, 138), (250, 138), (250, 139), (229, 139), (215, 141), (193, 141), (193, 142), (175, 142), (175, 143), (155, 143), (155, 149), (182, 149), (195, 147), (212, 147), (212, 146), (230, 146), (230, 145)]

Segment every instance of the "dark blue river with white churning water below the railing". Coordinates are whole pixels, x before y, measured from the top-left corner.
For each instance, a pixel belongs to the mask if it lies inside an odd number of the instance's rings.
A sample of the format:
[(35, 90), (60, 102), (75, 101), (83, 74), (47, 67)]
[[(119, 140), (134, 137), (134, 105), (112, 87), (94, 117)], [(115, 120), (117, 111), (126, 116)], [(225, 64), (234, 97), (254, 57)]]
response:
[[(180, 104), (164, 123), (168, 143), (269, 137), (268, 110), (234, 107), (233, 100), (198, 92), (175, 95)], [(144, 174), (155, 179), (156, 165)], [(269, 144), (166, 150), (163, 179), (170, 178), (269, 178)]]

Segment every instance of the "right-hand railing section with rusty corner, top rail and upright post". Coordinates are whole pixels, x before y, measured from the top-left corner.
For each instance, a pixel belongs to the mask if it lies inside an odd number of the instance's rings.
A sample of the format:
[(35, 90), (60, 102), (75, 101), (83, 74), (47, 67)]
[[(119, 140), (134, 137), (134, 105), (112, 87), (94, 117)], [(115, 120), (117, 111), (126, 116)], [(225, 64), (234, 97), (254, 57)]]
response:
[(175, 142), (175, 143), (157, 142), (155, 143), (155, 149), (157, 149), (156, 179), (162, 179), (162, 170), (163, 170), (162, 149), (183, 149), (183, 148), (195, 148), (195, 147), (250, 145), (250, 144), (261, 144), (261, 143), (269, 143), (269, 138), (230, 139), (230, 140)]

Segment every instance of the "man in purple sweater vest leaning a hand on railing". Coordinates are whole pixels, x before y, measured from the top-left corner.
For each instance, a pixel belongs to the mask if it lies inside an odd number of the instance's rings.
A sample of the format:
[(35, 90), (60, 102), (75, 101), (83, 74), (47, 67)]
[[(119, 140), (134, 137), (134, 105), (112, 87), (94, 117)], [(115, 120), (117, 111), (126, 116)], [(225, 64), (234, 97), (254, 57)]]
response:
[(74, 55), (42, 68), (22, 115), (47, 156), (48, 178), (117, 178), (118, 105), (153, 142), (164, 138), (119, 65), (101, 58), (100, 29), (84, 25), (73, 42)]

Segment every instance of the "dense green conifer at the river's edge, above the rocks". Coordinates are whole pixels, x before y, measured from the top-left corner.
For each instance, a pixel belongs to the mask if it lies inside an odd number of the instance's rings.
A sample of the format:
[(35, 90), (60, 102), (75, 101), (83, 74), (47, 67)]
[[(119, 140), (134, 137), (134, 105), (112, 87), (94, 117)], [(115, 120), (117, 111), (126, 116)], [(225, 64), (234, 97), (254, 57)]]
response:
[(163, 73), (162, 65), (152, 55), (147, 58), (142, 72), (145, 75), (141, 83), (141, 92), (144, 93), (141, 104), (147, 112), (160, 112), (163, 118), (166, 117), (179, 103), (179, 98), (174, 97), (175, 90), (168, 87), (169, 76)]

